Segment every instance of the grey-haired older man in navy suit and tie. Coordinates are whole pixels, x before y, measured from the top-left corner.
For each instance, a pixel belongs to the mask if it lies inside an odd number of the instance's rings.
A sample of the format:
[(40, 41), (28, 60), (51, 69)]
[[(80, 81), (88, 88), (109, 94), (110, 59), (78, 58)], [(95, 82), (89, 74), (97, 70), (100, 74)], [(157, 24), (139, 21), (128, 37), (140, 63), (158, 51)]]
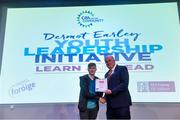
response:
[(129, 74), (125, 66), (116, 65), (113, 56), (105, 58), (109, 71), (105, 74), (108, 90), (105, 91), (107, 119), (131, 119), (131, 96), (128, 90)]

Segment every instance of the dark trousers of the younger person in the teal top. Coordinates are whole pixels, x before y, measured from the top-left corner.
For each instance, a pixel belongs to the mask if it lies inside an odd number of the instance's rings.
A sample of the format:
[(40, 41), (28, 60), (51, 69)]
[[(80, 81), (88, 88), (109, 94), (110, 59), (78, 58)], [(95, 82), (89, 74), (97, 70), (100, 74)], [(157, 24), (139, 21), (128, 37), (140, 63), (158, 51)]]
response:
[(86, 109), (83, 112), (79, 112), (80, 114), (80, 119), (96, 119), (97, 118), (97, 114), (98, 114), (98, 108), (94, 108), (94, 109)]

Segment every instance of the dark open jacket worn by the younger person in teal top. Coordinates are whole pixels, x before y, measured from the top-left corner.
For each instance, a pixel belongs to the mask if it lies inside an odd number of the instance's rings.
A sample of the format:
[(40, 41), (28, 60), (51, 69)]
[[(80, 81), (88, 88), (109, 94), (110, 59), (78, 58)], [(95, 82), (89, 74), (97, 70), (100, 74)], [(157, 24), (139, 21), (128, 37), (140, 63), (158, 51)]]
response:
[[(98, 79), (98, 77), (95, 76), (95, 79)], [(96, 92), (96, 94), (91, 94), (89, 92), (89, 82), (90, 78), (87, 75), (80, 77), (80, 94), (79, 94), (79, 103), (78, 108), (80, 111), (85, 111), (87, 109), (87, 101), (88, 99), (97, 99), (97, 107), (99, 109), (99, 97), (102, 96), (103, 93)]]

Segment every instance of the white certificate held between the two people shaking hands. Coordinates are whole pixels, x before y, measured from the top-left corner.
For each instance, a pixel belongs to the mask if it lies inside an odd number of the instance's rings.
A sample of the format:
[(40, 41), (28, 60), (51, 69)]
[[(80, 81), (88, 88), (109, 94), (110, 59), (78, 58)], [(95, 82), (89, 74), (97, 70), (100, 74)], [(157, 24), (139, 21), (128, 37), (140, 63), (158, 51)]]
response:
[(96, 79), (96, 85), (95, 85), (96, 92), (104, 92), (107, 90), (107, 79)]

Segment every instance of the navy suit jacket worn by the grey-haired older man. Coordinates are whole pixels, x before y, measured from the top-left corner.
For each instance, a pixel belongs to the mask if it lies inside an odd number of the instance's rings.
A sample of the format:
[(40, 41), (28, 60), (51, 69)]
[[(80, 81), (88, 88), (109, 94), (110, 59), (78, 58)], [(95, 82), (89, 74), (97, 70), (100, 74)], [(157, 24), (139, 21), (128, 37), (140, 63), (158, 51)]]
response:
[[(108, 72), (105, 74), (105, 78), (107, 78)], [(108, 79), (108, 89), (112, 91), (112, 94), (105, 95), (107, 107), (120, 108), (132, 105), (128, 84), (129, 73), (127, 68), (116, 65), (113, 74)]]

